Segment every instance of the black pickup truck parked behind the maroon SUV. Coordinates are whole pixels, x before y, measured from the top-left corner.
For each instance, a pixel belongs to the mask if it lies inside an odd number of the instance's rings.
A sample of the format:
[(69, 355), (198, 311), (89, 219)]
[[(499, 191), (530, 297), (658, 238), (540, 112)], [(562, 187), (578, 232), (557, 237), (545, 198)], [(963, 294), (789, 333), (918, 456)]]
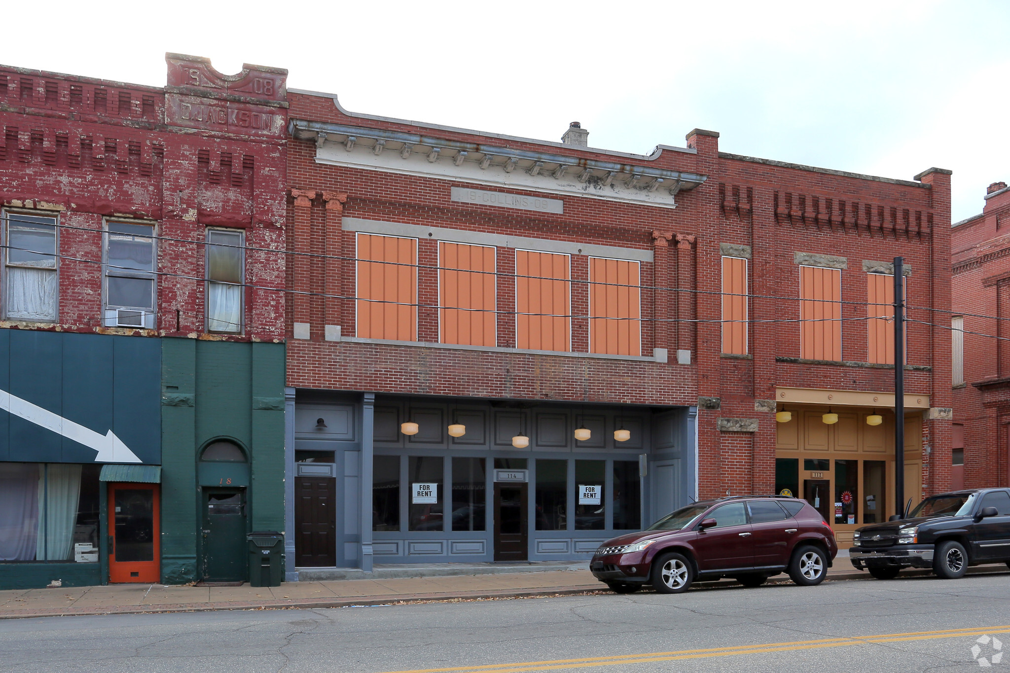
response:
[(953, 579), (971, 565), (1010, 566), (1010, 488), (927, 497), (905, 519), (858, 529), (852, 545), (852, 565), (878, 579), (892, 579), (908, 567), (931, 568)]

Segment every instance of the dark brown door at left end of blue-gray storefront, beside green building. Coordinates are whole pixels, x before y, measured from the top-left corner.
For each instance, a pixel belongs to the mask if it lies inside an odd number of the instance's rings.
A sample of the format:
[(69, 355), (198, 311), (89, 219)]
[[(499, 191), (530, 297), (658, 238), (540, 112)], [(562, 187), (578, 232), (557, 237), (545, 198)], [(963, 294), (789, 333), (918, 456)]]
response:
[(295, 477), (295, 565), (336, 565), (336, 479)]

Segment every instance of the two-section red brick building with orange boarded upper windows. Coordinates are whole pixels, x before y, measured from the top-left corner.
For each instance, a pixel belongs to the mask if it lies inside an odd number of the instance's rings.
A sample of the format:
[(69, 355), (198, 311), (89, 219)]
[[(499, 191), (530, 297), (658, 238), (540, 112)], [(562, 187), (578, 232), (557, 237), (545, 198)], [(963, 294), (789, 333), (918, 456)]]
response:
[[(559, 143), (289, 102), (302, 578), (586, 558), (726, 492), (802, 490), (842, 538), (895, 509), (878, 305), (903, 255), (908, 303), (949, 309), (949, 172), (737, 156), (699, 129), (636, 155), (578, 124)], [(925, 322), (908, 335), (913, 499), (949, 479), (950, 336)]]

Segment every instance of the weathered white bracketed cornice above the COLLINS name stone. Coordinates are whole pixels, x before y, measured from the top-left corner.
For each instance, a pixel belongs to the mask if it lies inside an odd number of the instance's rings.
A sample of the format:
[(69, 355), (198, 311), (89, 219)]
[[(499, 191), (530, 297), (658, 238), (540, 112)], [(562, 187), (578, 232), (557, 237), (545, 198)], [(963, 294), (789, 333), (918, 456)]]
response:
[[(298, 139), (316, 143), (319, 163), (661, 208), (676, 208), (678, 192), (693, 189), (706, 180), (706, 176), (648, 165), (361, 126), (296, 119), (291, 121), (289, 130)], [(440, 157), (446, 158), (439, 160)]]

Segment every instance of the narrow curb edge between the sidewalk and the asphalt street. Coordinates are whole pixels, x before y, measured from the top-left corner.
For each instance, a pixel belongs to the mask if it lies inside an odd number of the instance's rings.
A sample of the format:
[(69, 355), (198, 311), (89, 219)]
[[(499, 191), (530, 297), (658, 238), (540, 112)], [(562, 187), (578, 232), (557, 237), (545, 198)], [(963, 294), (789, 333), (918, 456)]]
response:
[[(926, 569), (903, 570), (896, 580), (912, 579), (931, 575)], [(1010, 568), (1004, 564), (976, 566), (968, 569), (969, 575), (1010, 574)], [(829, 573), (825, 581), (867, 580), (874, 577), (854, 568), (850, 571)], [(895, 581), (895, 580), (890, 580)], [(772, 577), (768, 584), (789, 584), (792, 580), (787, 575)], [(739, 586), (734, 579), (720, 579), (708, 582), (695, 582), (693, 588), (715, 589)], [(306, 609), (313, 607), (351, 607), (355, 605), (371, 607), (379, 605), (398, 605), (420, 602), (445, 602), (452, 600), (478, 600), (501, 598), (533, 598), (562, 595), (588, 594), (608, 592), (602, 583), (580, 584), (574, 586), (541, 587), (530, 589), (507, 589), (501, 591), (452, 591), (437, 593), (404, 593), (399, 595), (354, 596), (346, 598), (307, 598), (302, 600), (276, 599), (257, 601), (228, 601), (217, 603), (167, 603), (163, 605), (114, 605), (111, 607), (69, 607), (66, 609), (48, 610), (15, 610), (0, 611), (0, 620), (23, 620), (43, 616), (86, 616), (99, 614), (159, 614), (167, 612), (211, 612), (219, 610), (254, 610), (254, 609)]]

